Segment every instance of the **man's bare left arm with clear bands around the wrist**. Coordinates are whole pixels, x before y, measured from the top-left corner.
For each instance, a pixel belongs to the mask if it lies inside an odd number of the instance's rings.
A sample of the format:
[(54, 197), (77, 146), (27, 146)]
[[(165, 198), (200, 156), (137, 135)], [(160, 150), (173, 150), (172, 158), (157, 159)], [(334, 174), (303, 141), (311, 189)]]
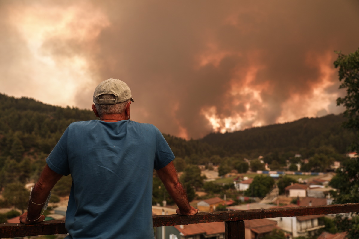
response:
[(20, 223), (34, 224), (39, 223), (45, 219), (45, 216), (40, 216), (42, 206), (46, 202), (51, 189), (55, 183), (60, 180), (61, 177), (61, 174), (54, 172), (46, 164), (39, 180), (37, 183), (35, 183), (32, 189), (32, 193), (30, 195), (31, 200), (29, 200), (27, 212), (24, 212), (24, 214), (20, 216)]

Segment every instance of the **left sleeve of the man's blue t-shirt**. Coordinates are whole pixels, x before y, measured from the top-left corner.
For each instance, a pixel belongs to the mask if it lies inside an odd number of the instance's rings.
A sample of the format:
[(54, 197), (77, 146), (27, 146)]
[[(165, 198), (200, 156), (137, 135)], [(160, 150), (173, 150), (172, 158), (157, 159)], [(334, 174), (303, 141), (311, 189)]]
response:
[(67, 158), (67, 136), (69, 134), (69, 127), (62, 134), (59, 142), (57, 142), (55, 148), (51, 151), (50, 155), (46, 159), (48, 167), (50, 167), (56, 173), (61, 175), (69, 175), (70, 167), (69, 160)]

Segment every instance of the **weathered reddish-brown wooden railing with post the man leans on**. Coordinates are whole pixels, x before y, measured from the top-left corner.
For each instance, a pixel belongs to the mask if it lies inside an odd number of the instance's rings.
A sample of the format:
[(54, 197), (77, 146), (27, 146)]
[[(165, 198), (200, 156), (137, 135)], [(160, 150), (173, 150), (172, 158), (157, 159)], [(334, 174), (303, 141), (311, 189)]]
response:
[[(337, 214), (346, 212), (359, 212), (359, 203), (221, 212), (199, 212), (193, 216), (179, 216), (176, 214), (159, 215), (153, 216), (153, 226), (174, 226), (224, 221), (225, 238), (244, 239), (243, 220)], [(44, 221), (34, 225), (23, 225), (21, 223), (0, 224), (0, 238), (65, 233), (67, 233), (65, 229), (65, 221)]]

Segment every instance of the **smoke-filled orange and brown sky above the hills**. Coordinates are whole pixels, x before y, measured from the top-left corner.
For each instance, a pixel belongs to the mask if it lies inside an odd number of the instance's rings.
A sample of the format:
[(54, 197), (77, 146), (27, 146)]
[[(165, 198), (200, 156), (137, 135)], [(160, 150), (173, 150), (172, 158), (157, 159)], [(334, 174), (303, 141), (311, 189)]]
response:
[(0, 92), (90, 109), (119, 78), (131, 119), (199, 138), (340, 113), (334, 50), (357, 0), (0, 1)]

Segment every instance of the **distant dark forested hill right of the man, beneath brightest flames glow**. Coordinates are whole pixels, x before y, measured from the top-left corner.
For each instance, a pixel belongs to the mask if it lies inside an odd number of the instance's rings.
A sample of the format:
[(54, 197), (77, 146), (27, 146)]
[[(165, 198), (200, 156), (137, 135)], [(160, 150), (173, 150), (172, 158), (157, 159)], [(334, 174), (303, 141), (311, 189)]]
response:
[(313, 149), (331, 146), (345, 153), (354, 134), (342, 128), (342, 115), (303, 118), (285, 124), (274, 124), (233, 133), (211, 133), (202, 142), (220, 147), (226, 154), (265, 155), (272, 152), (295, 152), (311, 156)]

